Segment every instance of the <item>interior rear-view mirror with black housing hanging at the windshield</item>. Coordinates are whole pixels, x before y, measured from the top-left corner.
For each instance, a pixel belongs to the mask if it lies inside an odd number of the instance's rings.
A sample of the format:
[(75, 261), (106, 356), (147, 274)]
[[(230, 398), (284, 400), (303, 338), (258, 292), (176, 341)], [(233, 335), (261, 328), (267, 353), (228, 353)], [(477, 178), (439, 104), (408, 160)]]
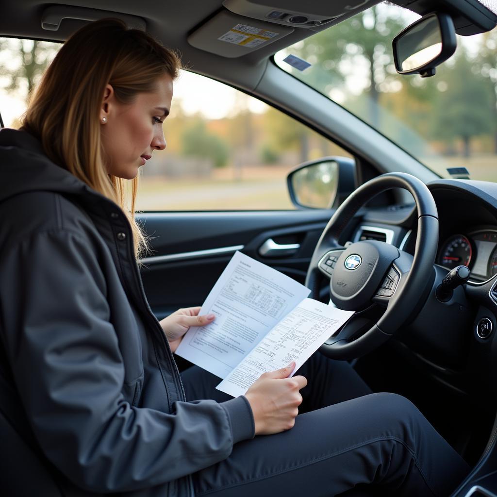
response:
[(435, 67), (456, 50), (456, 31), (448, 14), (432, 13), (401, 31), (392, 42), (399, 74), (433, 76)]

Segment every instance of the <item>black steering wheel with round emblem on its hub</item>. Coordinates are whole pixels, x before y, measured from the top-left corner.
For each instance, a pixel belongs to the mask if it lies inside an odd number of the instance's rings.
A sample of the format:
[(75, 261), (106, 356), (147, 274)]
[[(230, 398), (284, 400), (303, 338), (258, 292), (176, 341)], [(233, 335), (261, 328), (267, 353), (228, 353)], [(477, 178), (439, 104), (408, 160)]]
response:
[[(414, 197), (417, 238), (414, 257), (385, 242), (364, 240), (341, 247), (338, 240), (356, 212), (375, 195), (404, 188)], [(373, 304), (386, 306), (371, 328), (345, 325), (320, 348), (334, 359), (364, 355), (388, 340), (412, 315), (424, 296), (438, 245), (438, 212), (426, 185), (411, 174), (382, 174), (357, 188), (335, 211), (314, 250), (306, 286), (319, 300), (323, 280), (330, 280), (331, 302), (339, 309), (364, 311)], [(355, 316), (360, 316), (356, 312)], [(361, 322), (361, 318), (355, 318)], [(364, 328), (364, 327), (363, 327)]]

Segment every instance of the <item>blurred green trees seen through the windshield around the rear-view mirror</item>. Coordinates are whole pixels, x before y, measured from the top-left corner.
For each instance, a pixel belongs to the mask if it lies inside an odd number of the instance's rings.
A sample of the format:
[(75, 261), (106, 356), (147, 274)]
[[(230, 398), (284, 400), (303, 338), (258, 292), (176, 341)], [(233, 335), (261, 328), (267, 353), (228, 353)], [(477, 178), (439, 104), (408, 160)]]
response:
[[(342, 88), (347, 109), (399, 143), (416, 142), (417, 134), (438, 141), (446, 155), (456, 154), (459, 145), (469, 157), (478, 138), (497, 154), (497, 31), (482, 35), (471, 51), (459, 38), (456, 54), (435, 77), (401, 76), (395, 71), (392, 39), (409, 22), (398, 12), (378, 5), (304, 40), (293, 53), (317, 69), (292, 74), (328, 95)], [(364, 81), (354, 94), (347, 86), (351, 76), (357, 85), (357, 68), (364, 68)], [(415, 134), (405, 136), (409, 130), (401, 123)]]

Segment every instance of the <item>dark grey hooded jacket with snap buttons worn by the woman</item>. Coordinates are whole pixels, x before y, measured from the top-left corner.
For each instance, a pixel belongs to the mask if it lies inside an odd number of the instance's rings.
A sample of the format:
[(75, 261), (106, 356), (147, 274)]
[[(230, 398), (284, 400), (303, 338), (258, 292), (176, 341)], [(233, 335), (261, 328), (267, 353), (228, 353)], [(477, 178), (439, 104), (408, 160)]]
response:
[(0, 132), (0, 177), (2, 491), (192, 495), (253, 437), (247, 400), (185, 402), (116, 204), (23, 131)]

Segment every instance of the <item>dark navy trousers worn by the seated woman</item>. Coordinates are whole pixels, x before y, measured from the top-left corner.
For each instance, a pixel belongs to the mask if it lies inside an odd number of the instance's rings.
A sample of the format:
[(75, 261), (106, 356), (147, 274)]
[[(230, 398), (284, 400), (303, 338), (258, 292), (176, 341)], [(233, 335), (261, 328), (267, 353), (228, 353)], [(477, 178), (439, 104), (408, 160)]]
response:
[[(469, 472), (409, 400), (372, 394), (347, 362), (316, 353), (297, 374), (308, 386), (295, 426), (237, 443), (193, 475), (197, 496), (447, 497)], [(231, 398), (196, 366), (181, 377), (187, 400)]]

